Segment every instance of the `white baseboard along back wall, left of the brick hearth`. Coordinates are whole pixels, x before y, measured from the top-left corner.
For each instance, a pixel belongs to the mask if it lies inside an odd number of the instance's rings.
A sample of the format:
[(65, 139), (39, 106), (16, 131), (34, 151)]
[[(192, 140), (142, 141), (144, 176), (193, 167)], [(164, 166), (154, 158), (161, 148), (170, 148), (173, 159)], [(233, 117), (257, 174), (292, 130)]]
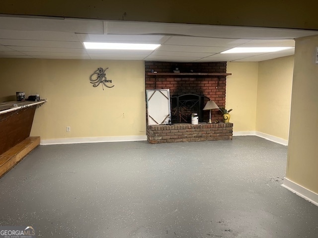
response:
[(146, 135), (106, 136), (106, 137), (77, 137), (41, 140), (41, 145), (78, 144), (97, 142), (140, 141), (147, 140)]

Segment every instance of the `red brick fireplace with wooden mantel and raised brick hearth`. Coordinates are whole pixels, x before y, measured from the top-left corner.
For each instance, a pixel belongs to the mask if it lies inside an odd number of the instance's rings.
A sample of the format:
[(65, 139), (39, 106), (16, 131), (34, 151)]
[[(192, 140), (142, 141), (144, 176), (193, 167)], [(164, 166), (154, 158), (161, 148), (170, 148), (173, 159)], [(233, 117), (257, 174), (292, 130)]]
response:
[[(173, 70), (176, 68), (179, 72), (174, 73)], [(227, 73), (227, 62), (145, 62), (145, 87), (146, 89), (169, 89), (172, 118), (176, 110), (172, 102), (176, 97), (187, 94), (197, 95), (200, 98), (202, 101), (200, 110), (208, 100), (213, 100), (219, 107), (225, 107), (227, 75), (231, 75)], [(223, 123), (222, 115), (218, 110), (212, 110), (212, 120), (218, 119), (220, 123), (207, 124), (208, 111), (200, 111), (199, 115), (199, 125), (192, 125), (183, 118), (174, 119), (173, 125), (148, 125), (148, 141), (163, 143), (232, 139), (233, 124)]]

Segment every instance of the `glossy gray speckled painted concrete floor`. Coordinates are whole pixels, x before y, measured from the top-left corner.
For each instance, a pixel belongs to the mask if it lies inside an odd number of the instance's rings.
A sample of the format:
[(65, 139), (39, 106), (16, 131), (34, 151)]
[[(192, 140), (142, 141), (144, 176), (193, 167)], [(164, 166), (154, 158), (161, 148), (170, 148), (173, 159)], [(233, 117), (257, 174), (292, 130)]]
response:
[(0, 225), (43, 238), (317, 238), (280, 186), (287, 147), (255, 136), (40, 146), (0, 179)]

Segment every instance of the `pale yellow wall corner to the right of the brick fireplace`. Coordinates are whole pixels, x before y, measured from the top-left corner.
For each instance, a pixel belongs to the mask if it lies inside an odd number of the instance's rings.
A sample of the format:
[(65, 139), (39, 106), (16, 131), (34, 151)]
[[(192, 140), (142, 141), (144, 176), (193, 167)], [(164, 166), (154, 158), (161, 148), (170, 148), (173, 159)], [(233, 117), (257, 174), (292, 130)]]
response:
[(228, 62), (226, 108), (233, 131), (261, 132), (288, 140), (294, 57)]

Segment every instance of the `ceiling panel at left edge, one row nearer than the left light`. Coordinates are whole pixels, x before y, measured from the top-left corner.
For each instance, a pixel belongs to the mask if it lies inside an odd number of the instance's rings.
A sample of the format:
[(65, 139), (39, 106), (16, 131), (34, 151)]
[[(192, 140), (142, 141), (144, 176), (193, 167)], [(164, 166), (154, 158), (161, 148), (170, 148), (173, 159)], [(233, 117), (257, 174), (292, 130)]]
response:
[(79, 41), (75, 33), (60, 31), (16, 31), (1, 30), (0, 39)]

